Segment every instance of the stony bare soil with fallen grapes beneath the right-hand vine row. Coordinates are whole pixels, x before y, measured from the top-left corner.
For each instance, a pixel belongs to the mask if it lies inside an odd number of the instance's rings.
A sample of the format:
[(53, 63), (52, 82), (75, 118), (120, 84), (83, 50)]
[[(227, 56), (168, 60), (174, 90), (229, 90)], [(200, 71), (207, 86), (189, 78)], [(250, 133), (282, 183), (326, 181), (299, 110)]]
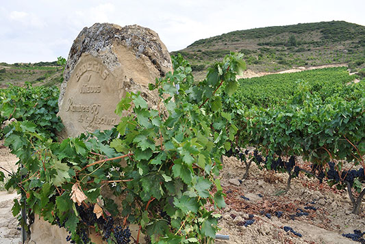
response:
[[(227, 194), (227, 207), (221, 211), (219, 234), (229, 235), (229, 241), (216, 243), (355, 243), (342, 234), (353, 230), (365, 231), (365, 213), (353, 215), (351, 201), (346, 191), (329, 188), (326, 183), (300, 174), (292, 179), (291, 190), (285, 193), (288, 174), (273, 174), (259, 170), (252, 164), (249, 178), (242, 180), (245, 166), (236, 158), (223, 159), (220, 178), (223, 192)], [(249, 200), (244, 200), (242, 197)], [(314, 207), (316, 210), (305, 209)], [(307, 212), (307, 216), (294, 217)], [(364, 202), (363, 202), (364, 208)], [(276, 217), (275, 211), (283, 216)], [(266, 217), (270, 214), (270, 219)], [(253, 215), (251, 226), (243, 223)], [(285, 232), (289, 226), (302, 237)]]

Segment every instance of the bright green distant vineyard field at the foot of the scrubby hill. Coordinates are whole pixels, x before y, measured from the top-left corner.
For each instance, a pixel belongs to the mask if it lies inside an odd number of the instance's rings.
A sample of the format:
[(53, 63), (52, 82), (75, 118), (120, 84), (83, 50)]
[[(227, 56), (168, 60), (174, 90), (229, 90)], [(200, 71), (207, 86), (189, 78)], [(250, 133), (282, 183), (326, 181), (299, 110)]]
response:
[[(247, 107), (270, 107), (285, 103), (297, 90), (298, 81), (305, 82), (311, 92), (318, 93), (323, 99), (333, 94), (356, 96), (347, 92), (347, 85), (355, 80), (346, 67), (305, 70), (286, 74), (269, 74), (264, 77), (240, 79), (236, 98)], [(363, 86), (362, 84), (359, 85)]]

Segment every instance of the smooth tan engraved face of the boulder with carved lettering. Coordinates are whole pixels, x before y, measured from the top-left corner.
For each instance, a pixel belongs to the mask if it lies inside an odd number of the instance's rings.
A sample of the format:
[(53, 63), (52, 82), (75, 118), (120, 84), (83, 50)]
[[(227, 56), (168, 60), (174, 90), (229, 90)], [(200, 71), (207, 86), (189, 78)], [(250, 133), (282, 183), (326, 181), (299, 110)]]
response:
[(66, 87), (59, 113), (68, 135), (105, 130), (118, 124), (114, 110), (124, 95), (119, 85), (116, 77), (97, 58), (81, 55)]

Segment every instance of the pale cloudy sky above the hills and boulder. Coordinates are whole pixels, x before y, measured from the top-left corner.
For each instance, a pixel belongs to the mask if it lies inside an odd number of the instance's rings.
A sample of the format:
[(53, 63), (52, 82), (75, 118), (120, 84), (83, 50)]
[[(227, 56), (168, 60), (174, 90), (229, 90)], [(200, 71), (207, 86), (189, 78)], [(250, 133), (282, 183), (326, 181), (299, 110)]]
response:
[(142, 25), (156, 31), (168, 51), (229, 31), (319, 21), (365, 25), (364, 0), (3, 0), (0, 62), (54, 61), (94, 23)]

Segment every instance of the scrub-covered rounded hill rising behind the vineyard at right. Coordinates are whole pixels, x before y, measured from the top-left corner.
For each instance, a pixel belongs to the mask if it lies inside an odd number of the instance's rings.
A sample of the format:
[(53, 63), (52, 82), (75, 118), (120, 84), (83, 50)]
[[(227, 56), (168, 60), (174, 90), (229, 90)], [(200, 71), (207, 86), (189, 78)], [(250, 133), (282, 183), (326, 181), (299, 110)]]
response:
[(260, 72), (338, 63), (355, 72), (365, 67), (365, 27), (331, 21), (232, 31), (171, 54), (181, 53), (199, 72), (230, 51), (244, 53), (247, 68)]

